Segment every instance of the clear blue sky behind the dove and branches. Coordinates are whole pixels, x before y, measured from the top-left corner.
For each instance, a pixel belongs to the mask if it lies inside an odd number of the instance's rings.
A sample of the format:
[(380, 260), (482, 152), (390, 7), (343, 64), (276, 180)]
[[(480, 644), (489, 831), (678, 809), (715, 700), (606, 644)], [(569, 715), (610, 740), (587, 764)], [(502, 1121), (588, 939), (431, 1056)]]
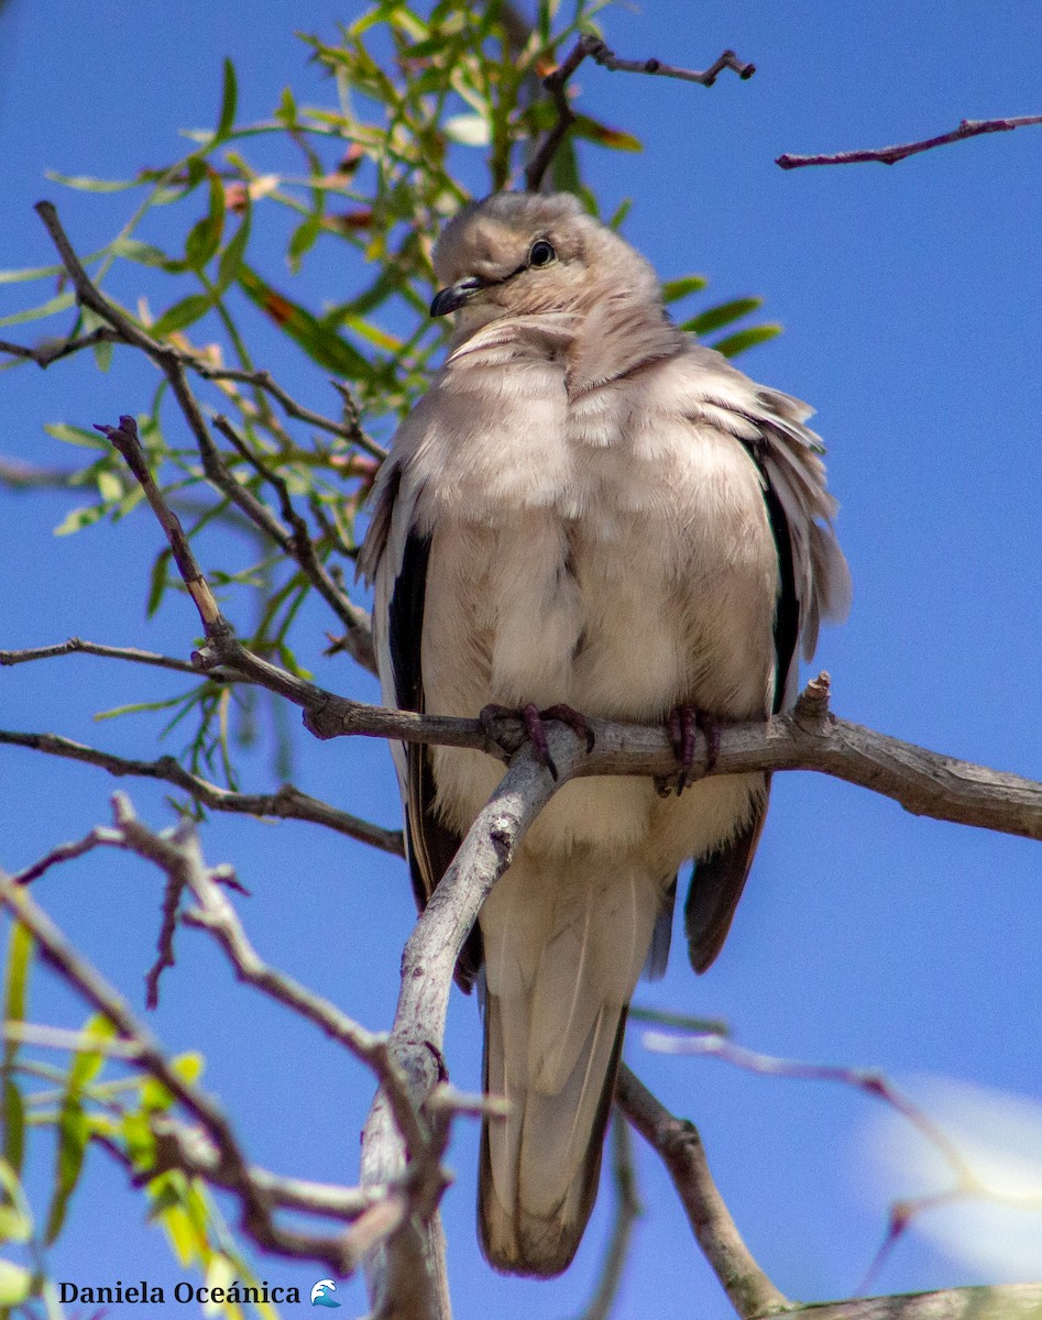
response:
[[(125, 177), (182, 150), (177, 131), (213, 121), (221, 58), (239, 69), (240, 117), (267, 116), (284, 84), (301, 100), (330, 94), (306, 65), (295, 28), (334, 36), (361, 7), (240, 0), (176, 7), (30, 5), (0, 18), (0, 265), (49, 263), (32, 211), (61, 206), (81, 251), (107, 239), (125, 197), (91, 198), (44, 180), (46, 169)], [(938, 751), (1042, 777), (1042, 554), (1038, 418), (1038, 224), (1042, 128), (948, 147), (893, 168), (783, 173), (783, 150), (840, 150), (930, 136), (963, 117), (1038, 114), (1033, 4), (870, 11), (650, 3), (610, 8), (619, 54), (704, 65), (724, 46), (753, 61), (747, 83), (714, 88), (584, 67), (590, 112), (641, 136), (639, 156), (590, 152), (605, 210), (635, 199), (626, 236), (663, 277), (701, 271), (722, 300), (765, 296), (786, 333), (741, 366), (817, 409), (841, 543), (854, 579), (849, 622), (824, 634), (847, 718)], [(258, 222), (263, 223), (263, 211)], [(281, 232), (281, 231), (280, 231)], [(145, 235), (147, 236), (147, 235)], [(320, 255), (291, 279), (271, 243), (268, 273), (320, 306), (359, 271)], [(129, 296), (122, 285), (124, 296)], [(32, 294), (42, 301), (46, 294)], [(0, 315), (28, 302), (0, 286)], [(58, 327), (59, 330), (61, 327)], [(0, 331), (24, 338), (37, 327)], [(263, 341), (261, 341), (263, 342)], [(275, 341), (269, 339), (275, 347)], [(285, 355), (287, 350), (280, 348)], [(293, 393), (334, 407), (321, 375), (280, 356), (265, 363)], [(123, 355), (108, 376), (88, 360), (0, 376), (7, 454), (75, 458), (42, 432), (145, 407), (152, 376)], [(195, 620), (168, 607), (145, 623), (147, 570), (158, 532), (145, 516), (54, 539), (63, 496), (0, 491), (7, 572), (0, 647), (70, 635), (184, 655)], [(317, 607), (305, 655), (320, 682), (375, 700), (375, 685), (324, 660)], [(306, 647), (306, 643), (305, 643)], [(0, 673), (0, 725), (48, 729), (128, 755), (152, 755), (147, 719), (92, 722), (94, 711), (170, 690), (162, 677), (74, 657)], [(263, 787), (265, 763), (247, 766)], [(386, 824), (398, 803), (386, 750), (301, 737), (295, 779)], [(106, 818), (116, 787), (100, 772), (0, 750), (0, 865), (17, 869)], [(139, 812), (168, 824), (164, 795), (123, 783)], [(368, 1027), (390, 1024), (398, 958), (412, 921), (404, 867), (304, 825), (230, 818), (203, 832), (211, 862), (234, 861), (252, 896), (240, 909), (272, 962), (334, 998)], [(45, 879), (38, 896), (141, 1006), (157, 928), (157, 876), (106, 855)], [(638, 1002), (726, 1018), (749, 1047), (799, 1059), (878, 1065), (913, 1092), (951, 1077), (1038, 1098), (1042, 1071), (1042, 895), (1038, 845), (917, 820), (895, 804), (821, 776), (781, 775), (746, 896), (720, 961), (695, 979), (681, 958)], [(34, 1020), (82, 1014), (45, 973)], [(218, 953), (186, 932), (155, 1027), (170, 1048), (207, 1056), (207, 1085), (234, 1111), (251, 1156), (280, 1172), (353, 1181), (371, 1098), (365, 1072), (308, 1028), (238, 987)], [(471, 1001), (450, 1012), (453, 1080), (475, 1086), (479, 1024)], [(917, 1183), (914, 1162), (886, 1164), (868, 1129), (877, 1106), (844, 1088), (771, 1081), (713, 1060), (664, 1059), (631, 1031), (627, 1057), (677, 1113), (695, 1119), (749, 1245), (792, 1296), (843, 1296), (866, 1269), (887, 1200)], [(930, 1094), (934, 1094), (930, 1090)], [(461, 1317), (576, 1313), (600, 1259), (605, 1188), (582, 1253), (551, 1284), (504, 1280), (473, 1233), (477, 1133), (461, 1125), (446, 1199), (450, 1271)], [(48, 1185), (41, 1143), (33, 1185)], [(877, 1173), (886, 1164), (886, 1176)], [(663, 1320), (730, 1313), (681, 1221), (664, 1176), (641, 1152), (646, 1214), (619, 1316)], [(1042, 1233), (1037, 1241), (1042, 1241)], [(143, 1228), (120, 1172), (96, 1158), (54, 1251), (58, 1278), (180, 1276), (158, 1233)], [(1042, 1247), (1031, 1271), (1042, 1275)], [(1026, 1270), (1026, 1272), (1025, 1272)], [(987, 1282), (979, 1262), (910, 1234), (876, 1280), (880, 1291)], [(317, 1274), (263, 1262), (273, 1282)], [(357, 1283), (345, 1305), (365, 1308)]]

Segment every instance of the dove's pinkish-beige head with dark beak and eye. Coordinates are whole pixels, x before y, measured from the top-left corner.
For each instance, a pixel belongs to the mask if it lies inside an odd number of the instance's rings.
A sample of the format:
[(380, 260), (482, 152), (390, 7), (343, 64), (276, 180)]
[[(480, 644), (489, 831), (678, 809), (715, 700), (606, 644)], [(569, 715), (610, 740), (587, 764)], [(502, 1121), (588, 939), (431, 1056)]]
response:
[(457, 313), (457, 339), (503, 317), (582, 314), (605, 298), (660, 308), (648, 263), (567, 193), (470, 203), (438, 239), (434, 271), (431, 315)]

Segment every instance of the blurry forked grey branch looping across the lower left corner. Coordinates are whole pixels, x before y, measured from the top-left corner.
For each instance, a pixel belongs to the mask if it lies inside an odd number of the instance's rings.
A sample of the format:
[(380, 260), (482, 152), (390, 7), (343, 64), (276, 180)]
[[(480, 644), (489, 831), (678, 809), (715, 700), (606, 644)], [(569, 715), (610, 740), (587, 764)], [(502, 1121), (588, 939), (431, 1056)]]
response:
[[(404, 1152), (399, 1177), (386, 1184), (368, 1180), (367, 1188), (359, 1191), (276, 1180), (272, 1175), (263, 1173), (254, 1176), (255, 1171), (247, 1167), (231, 1129), (215, 1104), (180, 1078), (148, 1028), (137, 1022), (118, 993), (54, 929), (28, 895), (29, 880), (52, 866), (82, 857), (99, 846), (135, 853), (158, 866), (168, 876), (161, 957), (149, 977), (153, 983), (162, 966), (173, 962), (173, 927), (178, 921), (199, 927), (217, 939), (240, 979), (312, 1022), (372, 1069), (380, 1085), (384, 1113)], [(441, 1167), (441, 1158), (452, 1121), (461, 1113), (482, 1111), (485, 1101), (460, 1096), (450, 1088), (441, 1086), (425, 1096), (427, 1105), (421, 1110), (388, 1038), (366, 1031), (321, 995), (268, 966), (250, 942), (227, 899), (227, 887), (238, 887), (231, 869), (205, 863), (190, 821), (181, 821), (173, 830), (156, 833), (137, 820), (127, 799), (116, 793), (111, 826), (98, 826), (86, 838), (53, 849), (21, 875), (3, 879), (0, 903), (11, 908), (36, 935), (44, 957), (58, 974), (114, 1023), (119, 1031), (115, 1041), (119, 1056), (168, 1085), (176, 1100), (201, 1125), (199, 1131), (177, 1119), (162, 1119), (155, 1133), (161, 1167), (184, 1168), (235, 1192), (243, 1209), (244, 1232), (259, 1246), (321, 1262), (347, 1274), (365, 1251), (376, 1249), (388, 1236), (400, 1237), (405, 1226), (425, 1224), (434, 1216), (449, 1181)], [(195, 906), (180, 912), (184, 894), (190, 894)], [(82, 1043), (81, 1038), (82, 1034), (74, 1039)], [(176, 1085), (172, 1084), (172, 1077)], [(114, 1150), (114, 1154), (120, 1155), (119, 1150)], [(155, 1168), (149, 1168), (144, 1176), (151, 1177), (155, 1172)], [(339, 1237), (300, 1233), (276, 1222), (276, 1206), (350, 1218), (353, 1226)]]

